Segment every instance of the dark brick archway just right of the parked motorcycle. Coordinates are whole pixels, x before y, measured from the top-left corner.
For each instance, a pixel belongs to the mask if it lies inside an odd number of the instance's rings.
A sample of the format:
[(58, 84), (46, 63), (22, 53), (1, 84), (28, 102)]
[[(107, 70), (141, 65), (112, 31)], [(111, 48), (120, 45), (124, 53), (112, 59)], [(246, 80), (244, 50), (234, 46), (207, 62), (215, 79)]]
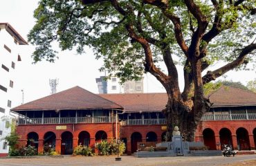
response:
[(237, 129), (237, 148), (238, 150), (250, 150), (248, 131), (243, 127)]

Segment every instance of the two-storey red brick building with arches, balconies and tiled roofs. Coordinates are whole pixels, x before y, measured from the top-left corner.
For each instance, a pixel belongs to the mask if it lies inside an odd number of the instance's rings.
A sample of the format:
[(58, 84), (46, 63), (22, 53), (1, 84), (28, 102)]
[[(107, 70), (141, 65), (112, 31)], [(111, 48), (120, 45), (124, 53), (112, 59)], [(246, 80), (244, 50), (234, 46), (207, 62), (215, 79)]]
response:
[[(256, 94), (223, 86), (210, 101), (212, 108), (201, 119), (195, 139), (210, 149), (230, 144), (241, 151), (255, 150)], [(138, 149), (137, 142), (164, 140), (161, 110), (166, 103), (165, 93), (95, 95), (76, 86), (12, 111), (19, 114), (20, 145), (43, 151), (47, 144), (70, 154), (77, 145), (93, 147), (102, 139), (122, 138), (131, 154)]]

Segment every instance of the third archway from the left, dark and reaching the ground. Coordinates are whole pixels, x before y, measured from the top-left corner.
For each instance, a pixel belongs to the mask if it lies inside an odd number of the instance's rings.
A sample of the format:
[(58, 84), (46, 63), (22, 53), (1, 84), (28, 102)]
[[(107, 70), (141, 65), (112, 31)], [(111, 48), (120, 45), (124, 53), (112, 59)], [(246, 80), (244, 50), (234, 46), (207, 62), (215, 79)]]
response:
[(62, 154), (73, 154), (73, 134), (70, 131), (62, 133)]

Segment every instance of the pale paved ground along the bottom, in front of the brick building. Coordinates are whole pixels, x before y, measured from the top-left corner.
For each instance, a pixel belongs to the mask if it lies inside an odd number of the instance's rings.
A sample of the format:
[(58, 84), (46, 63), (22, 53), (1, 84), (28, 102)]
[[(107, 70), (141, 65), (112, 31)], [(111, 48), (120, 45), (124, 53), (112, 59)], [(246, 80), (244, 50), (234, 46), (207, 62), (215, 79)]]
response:
[(163, 157), (163, 158), (136, 158), (134, 156), (122, 156), (122, 161), (116, 161), (116, 156), (65, 156), (64, 158), (0, 158), (0, 165), (51, 165), (51, 166), (65, 166), (65, 165), (141, 165), (141, 166), (154, 166), (154, 165), (173, 165), (173, 166), (212, 166), (212, 165), (256, 165), (255, 155), (240, 155), (235, 157)]

